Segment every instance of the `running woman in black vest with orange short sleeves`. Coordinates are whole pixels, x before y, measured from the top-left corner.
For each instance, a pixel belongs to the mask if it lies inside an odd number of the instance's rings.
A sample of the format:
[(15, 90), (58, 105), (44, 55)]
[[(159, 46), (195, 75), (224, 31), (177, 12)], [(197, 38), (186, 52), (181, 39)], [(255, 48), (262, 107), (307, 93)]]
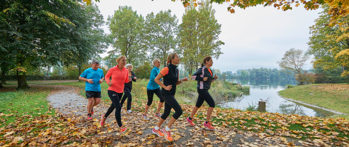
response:
[[(170, 132), (171, 126), (183, 113), (182, 108), (178, 104), (177, 100), (174, 98), (174, 94), (176, 94), (176, 86), (181, 84), (183, 81), (188, 80), (187, 77), (179, 80), (179, 70), (176, 66), (176, 64), (179, 63), (179, 60), (180, 59), (177, 53), (170, 53), (167, 57), (167, 66), (160, 71), (160, 73), (156, 76), (154, 80), (159, 86), (162, 87), (161, 96), (165, 101), (165, 109), (164, 113), (161, 115), (159, 119), (159, 122), (153, 129), (153, 133), (159, 137), (164, 136), (167, 141), (173, 141)], [(161, 83), (161, 78), (163, 78), (164, 84)], [(165, 128), (162, 129), (161, 132), (160, 126), (170, 115), (171, 109), (174, 110), (174, 114), (172, 115), (170, 122), (167, 124)]]

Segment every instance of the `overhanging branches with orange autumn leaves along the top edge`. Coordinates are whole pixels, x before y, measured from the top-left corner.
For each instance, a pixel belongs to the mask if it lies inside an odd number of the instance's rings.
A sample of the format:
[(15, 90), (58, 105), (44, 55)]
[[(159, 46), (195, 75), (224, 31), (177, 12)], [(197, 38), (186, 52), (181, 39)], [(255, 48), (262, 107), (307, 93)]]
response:
[[(84, 0), (84, 2), (88, 5), (91, 4), (91, 0)], [(99, 0), (95, 0), (98, 1)], [(153, 1), (153, 0), (152, 0)], [(176, 0), (171, 0), (176, 1)], [(197, 7), (198, 5), (202, 5), (202, 2), (196, 2), (196, 0), (193, 0), (194, 2), (190, 3), (191, 0), (180, 0), (183, 3), (184, 7), (188, 6), (194, 6)], [(286, 10), (292, 10), (292, 4), (296, 3), (296, 7), (300, 6), (300, 3), (304, 5), (304, 8), (306, 10), (315, 10), (318, 9), (320, 5), (329, 5), (329, 11), (328, 14), (331, 16), (331, 22), (332, 24), (336, 24), (336, 20), (348, 16), (349, 11), (349, 2), (347, 0), (232, 0), (230, 3), (230, 0), (210, 0), (210, 3), (218, 3), (218, 4), (228, 4), (228, 11), (230, 13), (235, 13), (235, 10), (232, 7), (239, 7), (246, 9), (248, 7), (253, 7), (257, 5), (263, 5), (266, 6), (274, 6), (277, 9), (282, 9), (283, 11)]]

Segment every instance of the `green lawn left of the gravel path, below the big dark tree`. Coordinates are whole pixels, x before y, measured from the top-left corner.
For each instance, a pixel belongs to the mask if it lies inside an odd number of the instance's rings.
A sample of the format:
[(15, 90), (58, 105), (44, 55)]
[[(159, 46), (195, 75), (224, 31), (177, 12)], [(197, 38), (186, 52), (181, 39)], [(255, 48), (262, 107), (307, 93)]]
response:
[(5, 126), (16, 121), (16, 117), (23, 115), (40, 116), (42, 114), (54, 115), (46, 97), (52, 89), (47, 87), (33, 87), (25, 90), (16, 90), (15, 87), (6, 87), (0, 92), (0, 121)]

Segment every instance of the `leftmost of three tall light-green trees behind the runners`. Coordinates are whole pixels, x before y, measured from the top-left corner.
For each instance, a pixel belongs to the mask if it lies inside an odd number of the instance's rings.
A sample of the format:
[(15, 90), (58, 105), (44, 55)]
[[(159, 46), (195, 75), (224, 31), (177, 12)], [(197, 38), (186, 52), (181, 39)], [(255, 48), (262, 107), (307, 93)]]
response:
[[(110, 37), (113, 39), (114, 50), (109, 51), (109, 57), (113, 55), (126, 56), (127, 62), (138, 65), (146, 57), (146, 47), (142, 44), (144, 36), (144, 19), (131, 7), (119, 6), (114, 15), (108, 17)], [(116, 58), (112, 60), (116, 60)]]

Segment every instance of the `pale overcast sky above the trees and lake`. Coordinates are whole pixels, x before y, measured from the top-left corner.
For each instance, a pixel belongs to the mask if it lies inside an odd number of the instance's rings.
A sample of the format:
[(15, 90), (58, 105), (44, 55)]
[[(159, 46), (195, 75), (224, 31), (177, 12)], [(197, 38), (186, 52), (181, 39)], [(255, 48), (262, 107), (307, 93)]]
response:
[[(150, 12), (157, 14), (161, 10), (170, 9), (180, 24), (185, 9), (179, 0), (100, 0), (96, 3), (105, 21), (119, 6), (131, 6), (144, 19)], [(232, 72), (262, 66), (278, 68), (276, 61), (281, 60), (287, 50), (294, 47), (306, 51), (310, 37), (309, 27), (314, 25), (314, 20), (321, 12), (321, 9), (305, 10), (300, 5), (287, 11), (262, 6), (245, 10), (234, 8), (235, 14), (230, 14), (227, 7), (227, 3), (213, 3), (217, 22), (222, 25), (219, 39), (225, 45), (220, 46), (223, 54), (214, 59), (212, 68)], [(103, 29), (110, 33), (107, 26), (103, 26)], [(107, 49), (110, 50), (112, 47)], [(102, 57), (106, 55), (108, 54), (101, 54)], [(312, 67), (310, 61), (307, 62), (306, 69)]]

